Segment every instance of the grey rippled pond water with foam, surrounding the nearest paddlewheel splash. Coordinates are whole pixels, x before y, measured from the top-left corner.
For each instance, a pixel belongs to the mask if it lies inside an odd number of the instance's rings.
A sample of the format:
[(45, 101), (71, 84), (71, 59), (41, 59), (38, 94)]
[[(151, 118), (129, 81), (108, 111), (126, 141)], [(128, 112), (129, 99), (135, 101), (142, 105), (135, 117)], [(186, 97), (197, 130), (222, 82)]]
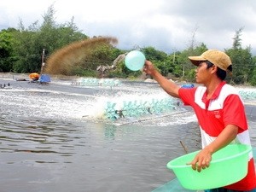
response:
[[(126, 90), (130, 96), (145, 86)], [(145, 95), (160, 91), (147, 87)], [(194, 113), (90, 119), (101, 101), (125, 94), (116, 89), (17, 84), (0, 91), (1, 191), (151, 191), (171, 180), (166, 163), (185, 153), (180, 142), (189, 152), (201, 148)], [(255, 146), (255, 119), (249, 123)]]

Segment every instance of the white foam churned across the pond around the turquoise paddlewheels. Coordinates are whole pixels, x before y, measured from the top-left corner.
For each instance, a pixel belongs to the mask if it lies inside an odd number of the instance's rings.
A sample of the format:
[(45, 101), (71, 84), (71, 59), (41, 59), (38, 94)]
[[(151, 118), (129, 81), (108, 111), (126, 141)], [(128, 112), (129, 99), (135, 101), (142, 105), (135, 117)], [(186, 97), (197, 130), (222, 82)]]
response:
[[(58, 84), (62, 84), (63, 89), (65, 89), (65, 86), (72, 86), (70, 82)], [(90, 89), (97, 89), (102, 92), (97, 95), (86, 95), (86, 93), (79, 94), (67, 91), (45, 90), (44, 87), (38, 89), (38, 86), (21, 87), (20, 89), (1, 89), (0, 105), (2, 107), (4, 105), (7, 106), (4, 109), (6, 113), (15, 111), (14, 115), (18, 116), (42, 116), (53, 119), (100, 119), (107, 120), (116, 125), (151, 121), (160, 126), (167, 126), (186, 124), (196, 119), (194, 113), (185, 113), (180, 111), (180, 108), (177, 108), (177, 110), (174, 109), (172, 112), (147, 114), (143, 117), (125, 117), (113, 122), (106, 117), (108, 102), (115, 104), (115, 110), (122, 110), (124, 102), (150, 103), (152, 100), (169, 98), (173, 99), (175, 103), (179, 100), (166, 94), (160, 87), (151, 84), (122, 84), (119, 87), (113, 88), (96, 87)], [(256, 103), (256, 97), (253, 98), (256, 94), (255, 88), (237, 87), (237, 90), (245, 92), (246, 96), (252, 97), (246, 98), (246, 102)], [(241, 94), (241, 96), (243, 95)], [(14, 108), (15, 110), (13, 110)], [(172, 116), (172, 120), (170, 120), (170, 116)]]

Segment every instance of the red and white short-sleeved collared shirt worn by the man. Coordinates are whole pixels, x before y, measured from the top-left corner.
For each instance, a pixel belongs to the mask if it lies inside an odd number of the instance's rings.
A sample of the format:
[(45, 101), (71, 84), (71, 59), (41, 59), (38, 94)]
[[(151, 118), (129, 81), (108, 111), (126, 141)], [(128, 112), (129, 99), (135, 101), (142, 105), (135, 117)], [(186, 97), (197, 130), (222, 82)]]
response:
[[(223, 81), (210, 100), (207, 100), (207, 88), (204, 86), (192, 89), (180, 88), (178, 94), (185, 105), (195, 110), (201, 130), (202, 148), (212, 143), (227, 125), (239, 127), (236, 139), (232, 143), (251, 144), (245, 108), (233, 86)], [(235, 190), (256, 188), (253, 153), (249, 154), (247, 176), (225, 188)]]

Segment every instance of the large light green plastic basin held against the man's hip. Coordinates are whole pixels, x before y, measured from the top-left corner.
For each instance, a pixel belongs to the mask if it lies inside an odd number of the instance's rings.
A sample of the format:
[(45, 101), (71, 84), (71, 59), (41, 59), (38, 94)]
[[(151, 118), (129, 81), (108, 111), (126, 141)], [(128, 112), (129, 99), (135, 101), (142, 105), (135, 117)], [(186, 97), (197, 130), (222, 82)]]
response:
[(199, 151), (185, 154), (171, 160), (167, 167), (177, 176), (185, 189), (214, 189), (236, 183), (247, 175), (248, 154), (252, 147), (243, 144), (230, 144), (212, 154), (208, 168), (197, 172), (186, 165), (191, 162)]

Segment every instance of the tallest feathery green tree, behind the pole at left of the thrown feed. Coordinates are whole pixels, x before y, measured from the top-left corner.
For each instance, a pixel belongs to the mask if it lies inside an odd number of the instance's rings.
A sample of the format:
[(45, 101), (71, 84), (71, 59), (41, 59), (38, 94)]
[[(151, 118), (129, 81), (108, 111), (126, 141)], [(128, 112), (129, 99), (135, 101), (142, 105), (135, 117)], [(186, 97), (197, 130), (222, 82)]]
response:
[(78, 31), (77, 26), (70, 22), (57, 25), (55, 22), (55, 9), (53, 5), (49, 7), (43, 16), (43, 24), (38, 25), (38, 21), (26, 28), (20, 20), (19, 31), (15, 33), (15, 54), (19, 60), (15, 61), (14, 71), (16, 73), (40, 72), (42, 65), (43, 49), (45, 49), (45, 59), (56, 49), (88, 38)]

